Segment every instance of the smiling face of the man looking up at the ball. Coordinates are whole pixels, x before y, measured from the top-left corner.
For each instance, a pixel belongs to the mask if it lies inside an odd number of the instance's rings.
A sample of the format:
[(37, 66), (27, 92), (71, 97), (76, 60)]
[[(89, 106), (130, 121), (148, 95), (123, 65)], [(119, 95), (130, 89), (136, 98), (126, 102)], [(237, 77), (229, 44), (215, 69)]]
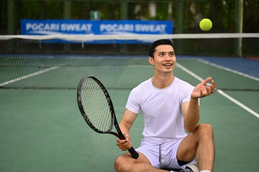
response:
[(175, 51), (170, 45), (159, 45), (155, 49), (154, 58), (149, 57), (148, 61), (159, 73), (172, 73), (176, 65)]

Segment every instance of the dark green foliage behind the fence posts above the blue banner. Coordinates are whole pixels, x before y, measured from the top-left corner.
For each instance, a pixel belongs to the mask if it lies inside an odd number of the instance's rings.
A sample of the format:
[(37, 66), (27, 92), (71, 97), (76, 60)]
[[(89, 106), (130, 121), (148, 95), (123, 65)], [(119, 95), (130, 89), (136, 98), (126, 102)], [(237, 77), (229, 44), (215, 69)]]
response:
[[(15, 0), (15, 33), (20, 33), (20, 20), (63, 19), (65, 0)], [(101, 11), (101, 20), (121, 19), (121, 5), (125, 0), (70, 0), (71, 19), (90, 19), (91, 10)], [(129, 20), (177, 21), (181, 0), (127, 0), (126, 18)], [(236, 32), (236, 3), (238, 0), (182, 0), (184, 4), (183, 33), (200, 32), (199, 21), (210, 18), (211, 32)], [(150, 15), (149, 6), (156, 6)], [(171, 12), (168, 12), (168, 8)], [(244, 0), (243, 32), (259, 32), (259, 0)], [(7, 34), (7, 0), (0, 1), (0, 34)], [(177, 33), (179, 30), (174, 29)]]

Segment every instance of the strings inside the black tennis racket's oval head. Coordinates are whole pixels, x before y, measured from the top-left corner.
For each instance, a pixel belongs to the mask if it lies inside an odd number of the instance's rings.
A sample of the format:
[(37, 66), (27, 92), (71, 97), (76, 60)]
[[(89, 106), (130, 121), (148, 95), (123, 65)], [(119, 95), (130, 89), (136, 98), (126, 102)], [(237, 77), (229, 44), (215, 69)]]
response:
[(87, 78), (81, 89), (81, 101), (85, 115), (99, 131), (107, 132), (112, 128), (109, 100), (103, 88), (91, 78)]

